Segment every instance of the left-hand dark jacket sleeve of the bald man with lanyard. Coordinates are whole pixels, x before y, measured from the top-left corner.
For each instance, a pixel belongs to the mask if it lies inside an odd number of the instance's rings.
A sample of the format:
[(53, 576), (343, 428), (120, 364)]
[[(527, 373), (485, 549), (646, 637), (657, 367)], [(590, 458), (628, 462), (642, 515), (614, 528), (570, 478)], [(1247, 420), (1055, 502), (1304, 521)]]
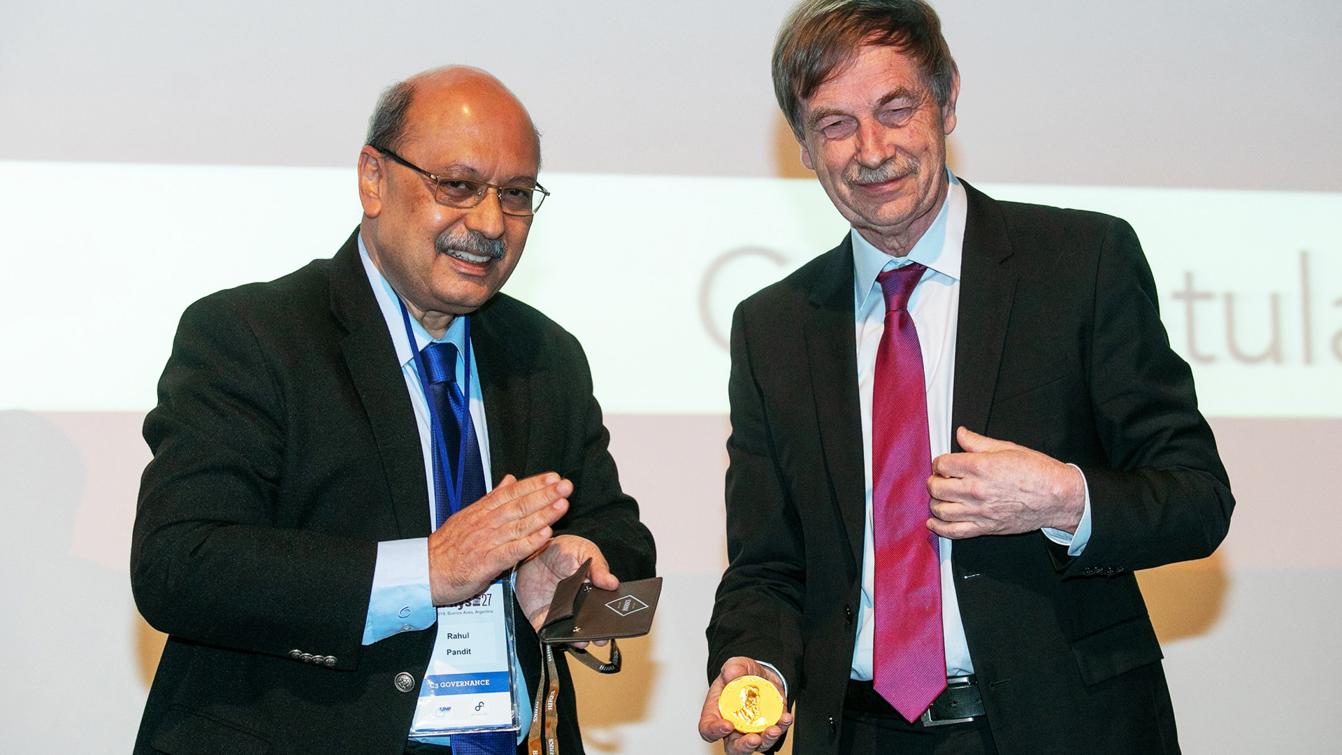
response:
[(227, 293), (183, 314), (145, 419), (132, 590), (177, 638), (353, 668), (377, 544), (278, 524), (285, 454), (301, 449), (275, 369)]

